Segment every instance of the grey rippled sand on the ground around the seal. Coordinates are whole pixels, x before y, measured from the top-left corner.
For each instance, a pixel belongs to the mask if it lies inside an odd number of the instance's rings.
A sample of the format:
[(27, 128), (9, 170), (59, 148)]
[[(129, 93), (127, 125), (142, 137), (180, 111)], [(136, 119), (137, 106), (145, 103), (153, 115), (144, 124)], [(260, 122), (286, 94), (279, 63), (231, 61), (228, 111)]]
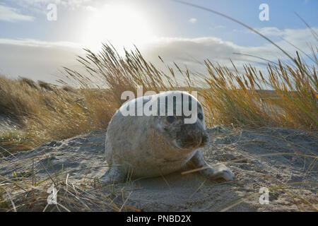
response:
[[(69, 184), (94, 184), (90, 189), (83, 186), (81, 202), (87, 205), (80, 209), (83, 211), (317, 211), (317, 134), (275, 128), (228, 130), (220, 126), (208, 129), (208, 134), (211, 141), (202, 150), (205, 159), (210, 165), (223, 162), (230, 167), (234, 181), (211, 182), (198, 172), (175, 172), (125, 184), (104, 184), (98, 178), (107, 170), (105, 131), (52, 141), (28, 152), (3, 157), (0, 174), (2, 178), (14, 179), (15, 172), (30, 181), (32, 159), (37, 182), (48, 174), (54, 180), (54, 174), (62, 171), (65, 181), (69, 172)], [(259, 203), (261, 187), (269, 189), (269, 204)], [(11, 194), (16, 203), (22, 201), (18, 194), (18, 191)], [(89, 202), (85, 197), (110, 205)]]

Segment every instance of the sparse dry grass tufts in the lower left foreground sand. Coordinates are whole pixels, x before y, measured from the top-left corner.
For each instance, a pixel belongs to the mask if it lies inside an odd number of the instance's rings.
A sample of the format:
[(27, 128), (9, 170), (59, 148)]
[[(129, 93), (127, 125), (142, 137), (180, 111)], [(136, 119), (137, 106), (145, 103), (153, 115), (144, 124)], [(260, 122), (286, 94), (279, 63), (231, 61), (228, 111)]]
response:
[[(28, 173), (34, 176), (36, 172)], [(126, 206), (124, 203), (119, 204), (118, 201), (114, 201), (115, 197), (126, 195), (126, 191), (117, 189), (114, 184), (105, 187), (98, 178), (72, 183), (69, 182), (69, 173), (63, 171), (59, 172), (58, 175), (47, 173), (47, 179), (40, 182), (36, 182), (34, 179), (30, 181), (25, 175), (15, 175), (11, 179), (0, 175), (0, 212), (93, 212), (96, 210), (95, 208), (100, 211), (140, 211)], [(52, 185), (57, 189), (56, 196), (59, 201), (56, 205), (47, 203), (49, 196), (47, 191)], [(98, 190), (108, 188), (112, 190), (110, 195), (101, 194)]]

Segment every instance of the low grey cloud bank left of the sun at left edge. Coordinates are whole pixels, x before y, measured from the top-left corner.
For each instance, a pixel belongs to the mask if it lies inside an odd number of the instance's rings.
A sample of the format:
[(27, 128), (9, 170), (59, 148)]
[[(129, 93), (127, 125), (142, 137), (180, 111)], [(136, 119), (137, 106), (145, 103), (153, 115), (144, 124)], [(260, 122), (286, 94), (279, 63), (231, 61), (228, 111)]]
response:
[(69, 42), (0, 39), (0, 74), (56, 83), (62, 66), (76, 69), (80, 46)]

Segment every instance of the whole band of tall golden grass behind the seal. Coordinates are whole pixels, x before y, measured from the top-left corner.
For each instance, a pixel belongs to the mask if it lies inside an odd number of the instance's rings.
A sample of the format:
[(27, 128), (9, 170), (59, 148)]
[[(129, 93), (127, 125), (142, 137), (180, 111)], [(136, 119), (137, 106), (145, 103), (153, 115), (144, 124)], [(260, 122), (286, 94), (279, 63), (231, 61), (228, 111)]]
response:
[(67, 79), (60, 81), (63, 88), (1, 77), (0, 113), (18, 120), (21, 127), (20, 133), (2, 135), (2, 147), (26, 150), (106, 129), (112, 114), (125, 101), (122, 92), (136, 93), (138, 85), (143, 86), (143, 92), (199, 91), (208, 126), (318, 128), (317, 65), (303, 64), (298, 54), (297, 64), (269, 64), (265, 74), (252, 65), (245, 65), (245, 72), (240, 73), (234, 64), (232, 70), (207, 60), (207, 73), (197, 75), (177, 64), (174, 68), (167, 66), (169, 73), (160, 71), (138, 49), (126, 51), (123, 57), (104, 44), (98, 54), (88, 49), (86, 53), (78, 61), (87, 74), (66, 68)]

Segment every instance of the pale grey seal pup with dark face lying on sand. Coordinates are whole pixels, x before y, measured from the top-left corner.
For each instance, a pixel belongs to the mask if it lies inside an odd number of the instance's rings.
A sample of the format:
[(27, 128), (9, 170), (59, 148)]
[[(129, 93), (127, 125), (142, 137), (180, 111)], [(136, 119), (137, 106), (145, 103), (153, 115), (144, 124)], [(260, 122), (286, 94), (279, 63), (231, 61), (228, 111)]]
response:
[(190, 165), (209, 179), (232, 180), (225, 167), (210, 167), (201, 153), (208, 143), (204, 111), (193, 95), (167, 91), (125, 102), (106, 133), (105, 156), (110, 169), (105, 182), (127, 177), (158, 177)]

